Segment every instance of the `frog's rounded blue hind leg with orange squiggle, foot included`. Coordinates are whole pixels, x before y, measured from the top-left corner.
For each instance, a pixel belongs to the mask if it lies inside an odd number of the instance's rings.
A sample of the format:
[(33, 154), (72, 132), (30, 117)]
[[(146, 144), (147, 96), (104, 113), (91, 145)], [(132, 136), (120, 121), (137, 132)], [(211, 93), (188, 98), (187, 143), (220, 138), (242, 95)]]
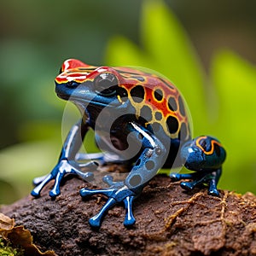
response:
[(189, 174), (171, 173), (172, 181), (190, 179), (191, 182), (180, 183), (186, 190), (207, 183), (208, 194), (219, 196), (217, 184), (222, 173), (222, 164), (225, 160), (225, 150), (213, 137), (196, 137), (183, 145), (181, 150), (184, 166), (191, 171)]

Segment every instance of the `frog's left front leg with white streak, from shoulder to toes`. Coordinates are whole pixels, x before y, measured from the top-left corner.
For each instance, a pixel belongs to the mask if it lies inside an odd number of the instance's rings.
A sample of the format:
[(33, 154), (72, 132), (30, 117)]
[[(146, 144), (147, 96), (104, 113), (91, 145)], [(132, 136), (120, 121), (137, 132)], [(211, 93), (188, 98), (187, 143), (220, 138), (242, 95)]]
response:
[(67, 173), (79, 175), (86, 181), (90, 181), (93, 178), (92, 172), (81, 172), (80, 170), (96, 170), (96, 162), (90, 161), (85, 164), (79, 164), (75, 161), (75, 156), (79, 151), (86, 132), (88, 131), (88, 127), (89, 126), (84, 124), (83, 121), (79, 121), (78, 124), (73, 125), (67, 135), (65, 143), (63, 144), (57, 165), (48, 175), (34, 179), (33, 183), (36, 187), (32, 189), (31, 195), (38, 197), (44, 186), (53, 179), (55, 179), (55, 184), (53, 189), (49, 191), (49, 195), (51, 197), (60, 195), (61, 180)]

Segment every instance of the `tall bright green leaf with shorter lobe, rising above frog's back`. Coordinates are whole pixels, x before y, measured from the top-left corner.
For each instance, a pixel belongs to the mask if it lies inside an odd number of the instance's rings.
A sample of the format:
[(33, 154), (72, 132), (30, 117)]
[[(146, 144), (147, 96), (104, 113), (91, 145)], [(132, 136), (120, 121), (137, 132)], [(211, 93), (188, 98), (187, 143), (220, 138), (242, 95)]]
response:
[(108, 64), (148, 67), (171, 79), (188, 102), (195, 133), (205, 132), (204, 73), (186, 32), (162, 1), (143, 2), (141, 41), (142, 49), (126, 38), (114, 37), (108, 44)]

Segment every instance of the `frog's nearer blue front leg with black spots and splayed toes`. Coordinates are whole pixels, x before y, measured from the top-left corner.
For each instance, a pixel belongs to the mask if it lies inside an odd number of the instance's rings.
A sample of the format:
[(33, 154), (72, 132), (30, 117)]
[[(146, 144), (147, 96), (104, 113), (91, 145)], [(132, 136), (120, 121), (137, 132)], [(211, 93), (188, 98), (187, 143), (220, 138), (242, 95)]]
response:
[(105, 177), (104, 182), (110, 186), (108, 189), (81, 189), (80, 195), (87, 197), (90, 195), (102, 194), (108, 196), (107, 203), (96, 216), (90, 218), (90, 225), (100, 227), (102, 218), (108, 210), (119, 202), (125, 203), (125, 226), (131, 226), (135, 223), (132, 213), (132, 203), (140, 195), (144, 186), (154, 177), (166, 155), (166, 149), (163, 144), (154, 137), (154, 135), (145, 131), (143, 127), (134, 123), (130, 124), (130, 130), (136, 133), (136, 137), (142, 143), (142, 154), (138, 157), (131, 172), (125, 178), (124, 182), (113, 182), (111, 177)]

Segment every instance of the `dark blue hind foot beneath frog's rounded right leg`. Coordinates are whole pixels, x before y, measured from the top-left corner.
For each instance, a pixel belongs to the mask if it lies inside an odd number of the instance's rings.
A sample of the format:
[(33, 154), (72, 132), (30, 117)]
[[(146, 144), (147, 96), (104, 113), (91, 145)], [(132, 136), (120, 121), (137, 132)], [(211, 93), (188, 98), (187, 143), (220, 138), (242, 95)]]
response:
[(172, 181), (178, 181), (182, 179), (190, 179), (191, 182), (182, 182), (180, 183), (181, 187), (187, 191), (194, 189), (200, 184), (207, 183), (209, 185), (208, 195), (219, 196), (217, 189), (218, 179), (221, 175), (221, 169), (214, 170), (212, 172), (193, 172), (180, 174), (173, 172), (170, 174)]

